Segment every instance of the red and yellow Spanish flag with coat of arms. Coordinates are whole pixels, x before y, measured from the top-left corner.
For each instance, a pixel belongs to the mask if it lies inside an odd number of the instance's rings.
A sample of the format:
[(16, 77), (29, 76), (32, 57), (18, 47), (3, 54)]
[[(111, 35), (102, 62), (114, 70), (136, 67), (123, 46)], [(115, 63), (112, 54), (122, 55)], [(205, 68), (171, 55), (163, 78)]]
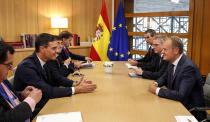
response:
[(108, 61), (108, 46), (110, 42), (110, 28), (107, 16), (105, 0), (102, 5), (101, 14), (98, 19), (96, 32), (94, 34), (94, 42), (91, 46), (90, 57), (94, 61)]

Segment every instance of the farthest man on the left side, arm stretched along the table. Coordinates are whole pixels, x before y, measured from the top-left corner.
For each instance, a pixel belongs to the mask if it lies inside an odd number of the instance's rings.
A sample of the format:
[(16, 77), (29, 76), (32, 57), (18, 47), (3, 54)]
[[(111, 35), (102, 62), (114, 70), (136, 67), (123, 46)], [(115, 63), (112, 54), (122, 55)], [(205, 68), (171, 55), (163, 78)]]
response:
[[(68, 47), (70, 46), (71, 40), (73, 39), (73, 35), (71, 33), (69, 33), (68, 31), (63, 31), (59, 34), (59, 38), (62, 39), (63, 44), (64, 44), (64, 48), (62, 49), (62, 52), (60, 54), (63, 60), (66, 60), (70, 57), (71, 59), (74, 59), (74, 60), (92, 62), (92, 59), (89, 57), (76, 55), (69, 51)], [(75, 62), (72, 65), (76, 68), (81, 67), (81, 63), (79, 62)]]

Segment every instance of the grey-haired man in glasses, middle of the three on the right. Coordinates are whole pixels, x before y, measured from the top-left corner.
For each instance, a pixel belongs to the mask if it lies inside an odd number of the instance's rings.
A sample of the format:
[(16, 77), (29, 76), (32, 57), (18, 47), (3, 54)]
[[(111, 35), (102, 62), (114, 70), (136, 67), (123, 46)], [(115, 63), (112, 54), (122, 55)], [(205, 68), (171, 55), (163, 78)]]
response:
[(142, 75), (143, 78), (148, 78), (152, 80), (158, 79), (161, 75), (164, 74), (168, 67), (168, 61), (163, 60), (163, 55), (161, 54), (163, 50), (163, 43), (167, 39), (165, 35), (157, 35), (153, 40), (153, 49), (156, 54), (159, 55), (157, 61), (155, 62), (154, 71), (142, 70), (141, 68), (134, 69), (134, 73), (137, 75)]

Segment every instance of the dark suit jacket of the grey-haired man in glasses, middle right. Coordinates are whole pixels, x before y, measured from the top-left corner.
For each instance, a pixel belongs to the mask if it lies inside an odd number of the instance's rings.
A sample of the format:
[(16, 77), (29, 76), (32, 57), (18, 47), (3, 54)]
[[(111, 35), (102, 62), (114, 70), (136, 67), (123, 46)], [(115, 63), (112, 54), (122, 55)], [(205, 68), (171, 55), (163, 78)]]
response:
[(142, 77), (152, 79), (152, 80), (157, 80), (161, 75), (165, 73), (165, 71), (167, 70), (168, 64), (169, 64), (168, 61), (163, 60), (159, 56), (159, 59), (155, 62), (155, 68), (154, 68), (155, 70), (154, 71), (144, 70)]

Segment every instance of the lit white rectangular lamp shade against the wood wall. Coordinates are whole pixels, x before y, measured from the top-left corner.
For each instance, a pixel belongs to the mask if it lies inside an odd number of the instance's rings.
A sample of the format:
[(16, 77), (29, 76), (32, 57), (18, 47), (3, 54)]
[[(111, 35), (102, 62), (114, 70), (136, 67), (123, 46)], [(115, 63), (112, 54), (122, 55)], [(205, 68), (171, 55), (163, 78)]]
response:
[(52, 28), (68, 28), (68, 18), (51, 18)]

